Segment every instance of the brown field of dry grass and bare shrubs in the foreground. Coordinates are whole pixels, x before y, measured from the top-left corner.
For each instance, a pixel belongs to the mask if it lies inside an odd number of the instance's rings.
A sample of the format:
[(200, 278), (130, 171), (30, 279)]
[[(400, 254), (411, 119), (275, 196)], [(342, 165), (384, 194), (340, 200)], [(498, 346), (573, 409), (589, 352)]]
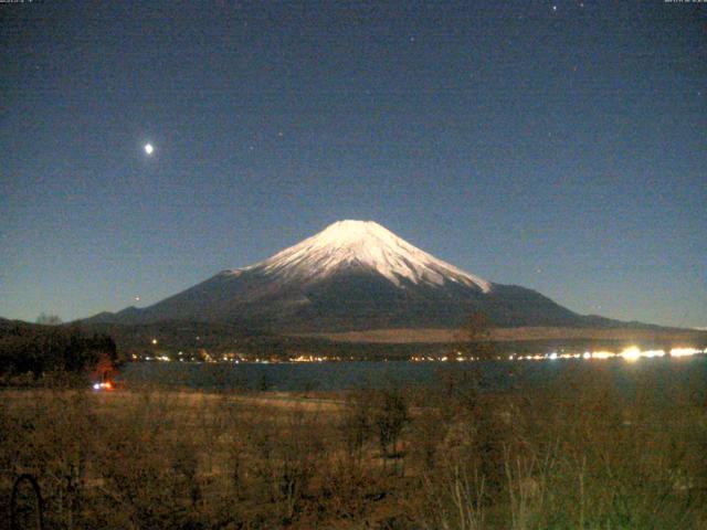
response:
[[(337, 394), (0, 394), (0, 521), (30, 473), (45, 528), (703, 529), (707, 382)], [(665, 378), (662, 379), (662, 381)], [(36, 528), (31, 496), (21, 528)]]

